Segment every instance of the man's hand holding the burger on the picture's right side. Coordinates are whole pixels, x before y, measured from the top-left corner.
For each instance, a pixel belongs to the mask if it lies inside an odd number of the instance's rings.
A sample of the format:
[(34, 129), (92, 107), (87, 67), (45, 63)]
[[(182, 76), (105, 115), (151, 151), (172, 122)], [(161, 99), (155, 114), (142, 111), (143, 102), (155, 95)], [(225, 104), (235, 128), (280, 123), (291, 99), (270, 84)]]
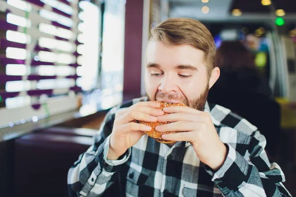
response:
[(185, 106), (166, 107), (163, 111), (170, 114), (158, 116), (157, 121), (171, 123), (157, 126), (155, 130), (184, 132), (163, 134), (162, 138), (190, 142), (200, 161), (218, 170), (225, 161), (227, 149), (218, 136), (210, 114)]

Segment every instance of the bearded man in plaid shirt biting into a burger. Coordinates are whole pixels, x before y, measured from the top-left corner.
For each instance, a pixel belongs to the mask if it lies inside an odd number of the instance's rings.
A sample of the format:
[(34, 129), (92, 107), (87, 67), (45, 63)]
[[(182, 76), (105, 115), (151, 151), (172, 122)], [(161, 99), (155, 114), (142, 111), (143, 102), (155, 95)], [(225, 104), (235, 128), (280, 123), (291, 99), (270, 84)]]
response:
[[(265, 138), (230, 110), (206, 101), (220, 75), (211, 33), (193, 19), (168, 19), (151, 32), (146, 57), (147, 98), (111, 109), (95, 143), (71, 167), (71, 196), (97, 197), (114, 183), (127, 197), (291, 196), (280, 167), (270, 164)], [(149, 101), (148, 101), (149, 100)], [(155, 109), (159, 103), (185, 106)], [(171, 122), (154, 141), (139, 124)]]

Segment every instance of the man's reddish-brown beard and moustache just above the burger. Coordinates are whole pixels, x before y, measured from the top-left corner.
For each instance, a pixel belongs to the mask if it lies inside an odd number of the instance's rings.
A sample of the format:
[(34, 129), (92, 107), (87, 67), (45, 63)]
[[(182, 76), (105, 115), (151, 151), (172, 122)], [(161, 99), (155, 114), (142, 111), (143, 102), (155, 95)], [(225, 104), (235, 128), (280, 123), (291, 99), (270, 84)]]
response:
[[(199, 111), (204, 111), (208, 94), (209, 94), (209, 84), (207, 85), (205, 90), (200, 94), (200, 96), (195, 99), (188, 100), (185, 96), (181, 96), (179, 94), (167, 95), (167, 94), (161, 93), (160, 91), (157, 91), (155, 94), (154, 100), (160, 100), (160, 99), (179, 100), (180, 102), (183, 102), (184, 104), (186, 104), (188, 107), (197, 109)], [(148, 94), (146, 95), (148, 99), (151, 100)]]

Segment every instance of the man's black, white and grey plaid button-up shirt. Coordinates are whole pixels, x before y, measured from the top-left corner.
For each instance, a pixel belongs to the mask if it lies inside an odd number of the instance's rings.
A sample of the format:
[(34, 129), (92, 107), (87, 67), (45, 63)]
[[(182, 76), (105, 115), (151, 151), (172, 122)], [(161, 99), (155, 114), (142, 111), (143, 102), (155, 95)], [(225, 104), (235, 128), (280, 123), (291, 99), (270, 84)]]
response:
[(133, 99), (106, 115), (94, 144), (69, 170), (70, 196), (101, 196), (118, 179), (126, 197), (291, 196), (282, 183), (281, 168), (269, 163), (265, 138), (257, 128), (229, 109), (208, 102), (205, 111), (228, 149), (218, 171), (200, 162), (189, 142), (177, 142), (170, 148), (147, 135), (118, 160), (107, 160), (116, 112), (138, 101), (147, 98)]

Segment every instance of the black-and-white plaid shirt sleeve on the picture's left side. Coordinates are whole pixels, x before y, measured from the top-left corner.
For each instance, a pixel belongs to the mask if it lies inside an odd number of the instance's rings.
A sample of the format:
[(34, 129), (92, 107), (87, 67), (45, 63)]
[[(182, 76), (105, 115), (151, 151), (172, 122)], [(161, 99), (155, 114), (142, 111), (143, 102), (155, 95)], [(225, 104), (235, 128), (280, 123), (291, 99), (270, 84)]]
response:
[(110, 133), (115, 118), (115, 108), (109, 111), (102, 123), (94, 144), (81, 154), (68, 172), (68, 191), (71, 197), (99, 197), (116, 180), (116, 172), (129, 156), (130, 149), (119, 160), (107, 160)]

